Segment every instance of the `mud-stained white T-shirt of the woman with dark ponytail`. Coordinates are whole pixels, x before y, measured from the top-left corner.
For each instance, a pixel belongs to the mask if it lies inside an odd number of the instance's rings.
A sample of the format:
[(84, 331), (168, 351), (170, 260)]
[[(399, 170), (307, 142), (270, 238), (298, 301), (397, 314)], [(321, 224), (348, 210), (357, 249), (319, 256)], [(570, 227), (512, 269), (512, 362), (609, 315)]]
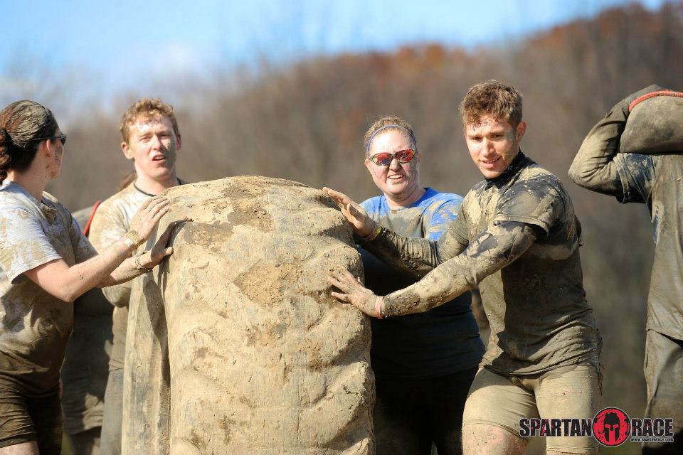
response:
[(96, 255), (69, 210), (48, 193), (38, 201), (16, 183), (0, 187), (0, 385), (31, 397), (49, 395), (73, 325), (73, 305), (23, 272), (64, 259), (69, 267)]

